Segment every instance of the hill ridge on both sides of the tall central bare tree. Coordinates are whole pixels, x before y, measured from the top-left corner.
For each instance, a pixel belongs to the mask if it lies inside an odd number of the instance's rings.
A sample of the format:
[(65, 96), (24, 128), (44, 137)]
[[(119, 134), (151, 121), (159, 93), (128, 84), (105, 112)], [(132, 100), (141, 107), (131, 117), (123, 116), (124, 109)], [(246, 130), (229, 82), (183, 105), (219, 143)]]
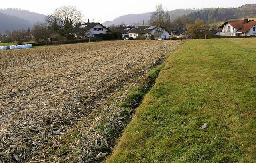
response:
[[(130, 24), (133, 26), (148, 25), (152, 12), (143, 14), (128, 14), (119, 16), (113, 21), (104, 22), (104, 26), (111, 26), (112, 24), (120, 25), (124, 22), (125, 25)], [(204, 20), (206, 23), (213, 21), (225, 21), (231, 19), (238, 19), (242, 17), (256, 17), (256, 4), (245, 4), (238, 8), (203, 8), (203, 9), (176, 9), (169, 11), (170, 19), (174, 20), (179, 16), (187, 16), (195, 19)]]

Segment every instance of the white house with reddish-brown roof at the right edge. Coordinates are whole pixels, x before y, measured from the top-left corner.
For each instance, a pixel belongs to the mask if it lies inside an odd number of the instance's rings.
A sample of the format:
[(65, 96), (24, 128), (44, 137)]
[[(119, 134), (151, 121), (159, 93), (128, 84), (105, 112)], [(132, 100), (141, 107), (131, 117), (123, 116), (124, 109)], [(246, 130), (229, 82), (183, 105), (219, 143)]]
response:
[(249, 18), (226, 21), (219, 28), (221, 36), (256, 36), (256, 22)]

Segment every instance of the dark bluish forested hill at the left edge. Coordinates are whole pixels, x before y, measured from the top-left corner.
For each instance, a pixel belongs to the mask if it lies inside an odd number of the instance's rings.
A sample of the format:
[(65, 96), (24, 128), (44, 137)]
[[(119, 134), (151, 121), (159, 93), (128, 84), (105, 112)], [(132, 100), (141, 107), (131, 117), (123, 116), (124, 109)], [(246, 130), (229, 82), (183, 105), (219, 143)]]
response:
[(12, 30), (20, 30), (24, 29), (27, 30), (28, 28), (31, 29), (32, 24), (28, 22), (28, 20), (24, 20), (21, 18), (18, 18), (17, 16), (11, 16), (6, 15), (3, 13), (0, 13), (0, 34), (4, 34), (7, 31)]

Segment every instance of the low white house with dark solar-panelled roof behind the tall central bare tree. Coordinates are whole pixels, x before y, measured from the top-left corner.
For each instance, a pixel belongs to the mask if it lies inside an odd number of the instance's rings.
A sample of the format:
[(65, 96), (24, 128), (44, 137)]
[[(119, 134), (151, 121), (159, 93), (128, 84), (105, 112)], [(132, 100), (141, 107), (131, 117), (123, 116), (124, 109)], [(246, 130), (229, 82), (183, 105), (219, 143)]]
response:
[(145, 37), (146, 39), (162, 38), (169, 39), (169, 32), (161, 29), (161, 34), (158, 32), (155, 26), (138, 26), (128, 32), (129, 37), (136, 38), (137, 36)]

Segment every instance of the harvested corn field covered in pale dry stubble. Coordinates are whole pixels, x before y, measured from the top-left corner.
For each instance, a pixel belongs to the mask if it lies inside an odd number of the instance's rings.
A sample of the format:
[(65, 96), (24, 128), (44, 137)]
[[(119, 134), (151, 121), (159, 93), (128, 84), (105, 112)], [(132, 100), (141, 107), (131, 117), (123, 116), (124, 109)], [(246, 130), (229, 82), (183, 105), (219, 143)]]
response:
[[(110, 41), (0, 51), (0, 162), (67, 162), (71, 151), (77, 151), (79, 162), (104, 156), (100, 147), (108, 142), (97, 141), (97, 133), (93, 141), (86, 137), (97, 121), (95, 110), (106, 109), (110, 97), (162, 63), (182, 42)], [(81, 123), (88, 124), (88, 131), (79, 129)], [(66, 147), (62, 137), (71, 137), (74, 129), (81, 136)]]

